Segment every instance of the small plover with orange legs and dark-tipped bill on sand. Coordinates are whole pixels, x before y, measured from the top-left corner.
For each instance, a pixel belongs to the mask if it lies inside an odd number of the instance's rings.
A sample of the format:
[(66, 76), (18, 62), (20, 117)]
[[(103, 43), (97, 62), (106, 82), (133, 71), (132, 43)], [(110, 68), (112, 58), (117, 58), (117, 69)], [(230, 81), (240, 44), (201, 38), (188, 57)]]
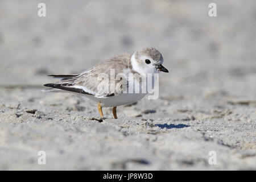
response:
[[(146, 92), (135, 92), (134, 85), (140, 85), (140, 90), (143, 90), (142, 80), (147, 75), (155, 75), (160, 71), (168, 73), (162, 63), (162, 54), (155, 48), (146, 47), (133, 54), (118, 54), (77, 75), (49, 75), (61, 80), (44, 86), (51, 87), (47, 92), (64, 91), (88, 97), (96, 102), (101, 117), (102, 107), (113, 107), (113, 116), (117, 119), (117, 106), (133, 104), (148, 93), (147, 89)], [(136, 75), (134, 81), (128, 79), (130, 75)]]

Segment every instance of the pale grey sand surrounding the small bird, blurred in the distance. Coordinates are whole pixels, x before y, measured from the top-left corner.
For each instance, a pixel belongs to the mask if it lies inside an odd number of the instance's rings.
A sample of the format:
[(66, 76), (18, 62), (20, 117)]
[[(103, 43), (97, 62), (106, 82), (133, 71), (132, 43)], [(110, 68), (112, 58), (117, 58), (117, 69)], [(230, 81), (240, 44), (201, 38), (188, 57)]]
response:
[[(46, 18), (39, 2), (0, 1), (0, 169), (256, 169), (255, 1), (215, 1), (215, 18), (203, 0), (46, 0)], [(118, 119), (40, 91), (48, 74), (146, 46), (170, 73), (158, 100), (120, 106)]]

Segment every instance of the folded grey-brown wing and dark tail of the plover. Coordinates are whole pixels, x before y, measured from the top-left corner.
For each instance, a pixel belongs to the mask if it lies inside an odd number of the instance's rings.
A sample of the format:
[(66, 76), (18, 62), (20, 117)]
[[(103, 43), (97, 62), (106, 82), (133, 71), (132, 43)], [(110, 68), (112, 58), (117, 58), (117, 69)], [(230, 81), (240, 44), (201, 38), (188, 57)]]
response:
[[(98, 92), (98, 85), (101, 84), (110, 88), (110, 69), (114, 69), (115, 76), (117, 76), (118, 73), (123, 73), (125, 69), (129, 69), (130, 57), (131, 55), (128, 53), (119, 54), (111, 59), (95, 65), (85, 72), (82, 72), (80, 75), (51, 75), (53, 77), (59, 77), (62, 79), (56, 84), (45, 84), (44, 86), (60, 90), (67, 90), (69, 92), (89, 94), (95, 97), (116, 96), (123, 92), (122, 84), (119, 84), (119, 89), (109, 89), (109, 92), (107, 93)], [(108, 75), (109, 79), (100, 80), (98, 76), (101, 73)], [(118, 82), (118, 80), (115, 80), (115, 85), (117, 85)]]

